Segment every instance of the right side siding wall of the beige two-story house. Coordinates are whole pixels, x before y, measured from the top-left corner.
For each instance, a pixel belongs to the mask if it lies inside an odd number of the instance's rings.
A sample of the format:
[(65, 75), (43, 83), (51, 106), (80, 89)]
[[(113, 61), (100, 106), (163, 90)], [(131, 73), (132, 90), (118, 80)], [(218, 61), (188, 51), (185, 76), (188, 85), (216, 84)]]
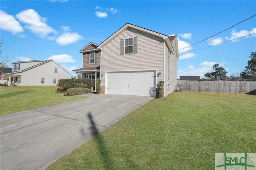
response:
[[(175, 48), (174, 48), (175, 50)], [(164, 91), (165, 96), (174, 92), (177, 85), (177, 59), (176, 56), (169, 52), (165, 47), (165, 82)]]

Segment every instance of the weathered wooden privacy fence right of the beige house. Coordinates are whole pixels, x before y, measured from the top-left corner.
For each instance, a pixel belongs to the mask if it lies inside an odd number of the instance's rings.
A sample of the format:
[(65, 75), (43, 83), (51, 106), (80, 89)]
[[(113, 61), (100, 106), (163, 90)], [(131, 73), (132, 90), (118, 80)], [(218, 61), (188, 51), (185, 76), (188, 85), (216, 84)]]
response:
[(256, 95), (256, 81), (189, 81), (177, 80), (184, 91), (246, 93)]

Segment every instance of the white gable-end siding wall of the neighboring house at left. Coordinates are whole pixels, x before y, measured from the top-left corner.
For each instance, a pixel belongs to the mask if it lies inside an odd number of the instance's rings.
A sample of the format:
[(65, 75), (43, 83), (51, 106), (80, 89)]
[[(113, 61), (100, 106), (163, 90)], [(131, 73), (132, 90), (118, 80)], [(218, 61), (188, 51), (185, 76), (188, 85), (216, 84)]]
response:
[[(58, 69), (57, 73), (55, 73), (55, 68)], [(57, 85), (59, 79), (71, 79), (71, 75), (53, 61), (18, 73), (18, 75), (21, 75), (19, 86)], [(44, 78), (44, 83), (41, 83), (41, 78)], [(56, 84), (53, 83), (53, 79), (56, 79)]]

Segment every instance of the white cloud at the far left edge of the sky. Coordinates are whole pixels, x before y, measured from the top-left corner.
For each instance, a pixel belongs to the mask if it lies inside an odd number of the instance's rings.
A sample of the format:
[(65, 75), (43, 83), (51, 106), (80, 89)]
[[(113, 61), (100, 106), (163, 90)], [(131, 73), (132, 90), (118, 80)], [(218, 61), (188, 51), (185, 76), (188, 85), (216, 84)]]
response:
[(0, 16), (1, 30), (11, 32), (12, 34), (23, 32), (22, 26), (12, 15), (6, 14), (6, 12), (1, 10)]

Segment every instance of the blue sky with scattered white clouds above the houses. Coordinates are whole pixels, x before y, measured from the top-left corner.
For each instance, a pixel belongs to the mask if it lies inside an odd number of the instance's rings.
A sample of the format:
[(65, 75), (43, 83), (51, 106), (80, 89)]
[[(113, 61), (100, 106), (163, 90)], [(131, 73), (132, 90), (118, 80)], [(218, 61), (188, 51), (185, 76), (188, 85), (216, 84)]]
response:
[[(2, 55), (10, 63), (54, 59), (75, 75), (72, 70), (82, 67), (79, 51), (89, 42), (102, 43), (126, 23), (177, 35), (182, 49), (254, 16), (256, 1), (1, 0), (0, 10)], [(228, 76), (240, 73), (256, 51), (254, 33), (256, 16), (180, 50), (177, 78), (203, 78), (215, 63)]]

